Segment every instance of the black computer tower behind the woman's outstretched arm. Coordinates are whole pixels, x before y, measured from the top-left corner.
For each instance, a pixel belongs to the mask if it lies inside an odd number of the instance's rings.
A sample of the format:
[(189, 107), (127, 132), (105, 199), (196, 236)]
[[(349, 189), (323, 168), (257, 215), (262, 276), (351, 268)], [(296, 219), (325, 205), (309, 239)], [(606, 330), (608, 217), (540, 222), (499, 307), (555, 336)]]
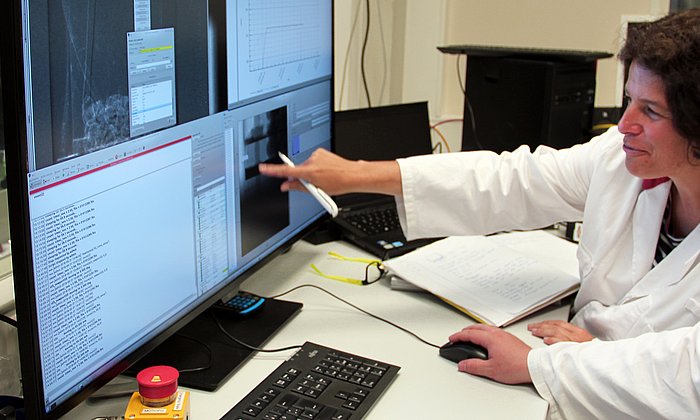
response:
[(462, 150), (587, 141), (595, 76), (595, 60), (468, 55)]

